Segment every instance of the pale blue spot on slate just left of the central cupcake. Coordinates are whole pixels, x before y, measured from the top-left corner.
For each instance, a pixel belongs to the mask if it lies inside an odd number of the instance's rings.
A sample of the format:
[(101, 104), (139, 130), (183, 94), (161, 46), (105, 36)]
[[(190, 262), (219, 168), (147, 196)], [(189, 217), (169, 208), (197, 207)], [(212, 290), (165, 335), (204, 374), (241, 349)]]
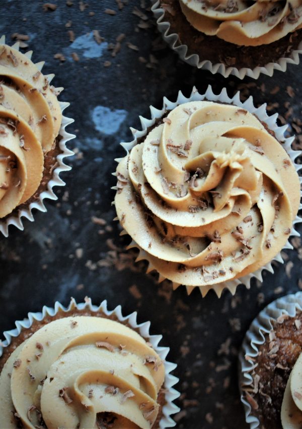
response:
[(105, 106), (96, 106), (92, 112), (96, 129), (104, 134), (116, 133), (126, 116), (125, 110), (110, 110)]

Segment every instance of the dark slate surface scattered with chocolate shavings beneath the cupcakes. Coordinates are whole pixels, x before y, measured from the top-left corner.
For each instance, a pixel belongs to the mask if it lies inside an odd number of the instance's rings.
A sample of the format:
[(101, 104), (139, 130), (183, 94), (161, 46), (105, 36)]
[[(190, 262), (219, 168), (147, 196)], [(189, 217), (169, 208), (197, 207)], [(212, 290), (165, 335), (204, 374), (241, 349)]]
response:
[[(138, 115), (148, 116), (150, 104), (160, 107), (164, 95), (173, 100), (178, 90), (189, 95), (193, 85), (199, 91), (208, 84), (215, 91), (226, 86), (230, 95), (242, 89), (243, 99), (251, 94), (256, 104), (267, 102), (271, 113), (294, 121), (299, 132), (301, 68), (289, 66), (286, 73), (261, 76), (257, 82), (225, 80), (181, 63), (161, 43), (149, 12), (150, 19), (143, 21), (148, 28), (137, 29), (142, 21), (132, 11), (134, 6), (142, 10), (139, 0), (122, 11), (113, 0), (90, 0), (83, 12), (77, 0), (71, 7), (63, 0), (53, 3), (58, 6), (54, 12), (44, 12), (38, 1), (6, 0), (2, 5), (0, 33), (9, 41), (15, 32), (30, 35), (33, 59), (46, 60), (44, 73), (55, 72), (54, 84), (65, 87), (60, 100), (71, 103), (65, 113), (75, 120), (68, 131), (77, 134), (69, 143), (77, 155), (69, 158), (72, 171), (62, 175), (66, 187), (57, 188), (58, 201), (47, 202), (47, 213), (36, 213), (34, 223), (25, 221), (24, 232), (11, 227), (9, 238), (0, 238), (0, 330), (13, 328), (15, 319), (44, 304), (67, 304), (70, 296), (81, 301), (89, 295), (95, 303), (107, 299), (109, 308), (121, 304), (125, 314), (137, 310), (139, 321), (151, 320), (152, 333), (163, 334), (163, 345), (171, 348), (169, 359), (178, 364), (177, 404), (182, 411), (176, 416), (177, 427), (244, 429), (238, 350), (266, 304), (299, 290), (299, 239), (294, 240), (295, 250), (284, 252), (286, 267), (278, 264), (275, 275), (264, 274), (262, 286), (241, 286), (235, 297), (226, 292), (220, 299), (212, 292), (202, 299), (198, 290), (187, 296), (183, 287), (172, 292), (168, 282), (159, 285), (155, 276), (144, 274), (143, 262), (134, 264), (135, 251), (125, 252), (129, 238), (119, 237), (112, 221), (111, 172), (114, 158), (124, 153), (119, 142), (131, 138), (128, 127), (139, 127)], [(105, 14), (106, 8), (116, 15)], [(94, 16), (89, 15), (92, 11)], [(70, 28), (65, 27), (68, 21)], [(74, 32), (73, 43), (68, 30)], [(93, 30), (99, 30), (103, 43), (94, 41)], [(113, 58), (107, 44), (121, 33), (126, 38)], [(53, 58), (58, 52), (64, 62)], [(72, 52), (80, 61), (71, 58)], [(110, 67), (104, 66), (106, 61)], [(106, 220), (106, 226), (93, 223), (92, 217)]]

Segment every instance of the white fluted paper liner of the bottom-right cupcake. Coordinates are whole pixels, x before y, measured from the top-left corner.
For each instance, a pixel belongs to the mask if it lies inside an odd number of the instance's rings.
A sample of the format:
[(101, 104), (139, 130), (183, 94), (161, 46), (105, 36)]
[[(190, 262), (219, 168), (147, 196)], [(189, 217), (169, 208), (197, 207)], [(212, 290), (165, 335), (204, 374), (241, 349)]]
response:
[(252, 387), (254, 383), (251, 373), (255, 367), (255, 362), (247, 359), (246, 356), (250, 356), (251, 358), (258, 356), (258, 346), (264, 344), (265, 336), (273, 329), (272, 321), (276, 321), (282, 314), (294, 317), (296, 311), (302, 311), (302, 292), (283, 296), (271, 302), (253, 320), (246, 333), (242, 350), (239, 354), (239, 388), (241, 401), (244, 404), (246, 421), (251, 429), (260, 429), (260, 422), (253, 415), (252, 407), (243, 394), (244, 388)]

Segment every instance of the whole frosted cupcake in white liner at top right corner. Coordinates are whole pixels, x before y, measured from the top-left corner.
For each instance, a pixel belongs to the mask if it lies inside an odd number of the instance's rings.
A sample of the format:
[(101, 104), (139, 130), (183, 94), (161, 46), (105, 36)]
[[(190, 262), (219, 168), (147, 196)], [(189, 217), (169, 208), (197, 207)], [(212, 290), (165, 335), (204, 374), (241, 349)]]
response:
[(212, 73), (258, 78), (299, 62), (299, 2), (155, 0), (153, 11), (182, 60)]

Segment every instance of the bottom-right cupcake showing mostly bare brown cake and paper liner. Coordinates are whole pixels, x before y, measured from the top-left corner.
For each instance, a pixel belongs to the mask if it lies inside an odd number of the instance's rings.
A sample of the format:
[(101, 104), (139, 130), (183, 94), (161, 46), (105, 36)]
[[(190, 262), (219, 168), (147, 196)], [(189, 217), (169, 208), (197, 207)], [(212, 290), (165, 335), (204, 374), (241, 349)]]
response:
[(302, 293), (268, 305), (253, 321), (240, 356), (241, 391), (251, 428), (302, 424)]

